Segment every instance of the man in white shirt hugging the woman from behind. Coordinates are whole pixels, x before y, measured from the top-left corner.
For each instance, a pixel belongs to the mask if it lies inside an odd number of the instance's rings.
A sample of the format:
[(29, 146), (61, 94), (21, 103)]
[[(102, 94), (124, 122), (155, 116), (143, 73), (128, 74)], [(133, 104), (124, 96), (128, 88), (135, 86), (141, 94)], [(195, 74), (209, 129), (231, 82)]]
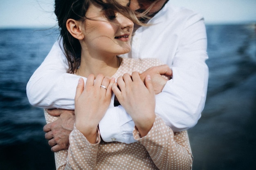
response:
[[(153, 5), (152, 7), (150, 5)], [(166, 66), (158, 66), (141, 73), (143, 79), (149, 74), (162, 91), (156, 95), (156, 110), (173, 131), (192, 128), (204, 108), (208, 83), (207, 37), (201, 15), (188, 9), (174, 7), (168, 0), (131, 0), (130, 8), (143, 12), (151, 7), (149, 26), (139, 27), (132, 38), (132, 50), (125, 57), (159, 58), (172, 69), (173, 77), (166, 82), (160, 75), (171, 75)], [(68, 74), (67, 61), (58, 44), (54, 44), (45, 61), (27, 84), (27, 95), (32, 105), (44, 108), (74, 109), (74, 94), (78, 76)], [(159, 83), (160, 82), (160, 83)], [(45, 88), (38, 89), (36, 86)], [(159, 92), (157, 91), (157, 93)], [(121, 109), (121, 107), (115, 107)], [(124, 110), (123, 110), (124, 111)], [(120, 113), (112, 110), (112, 112)], [(122, 112), (122, 110), (121, 110)], [(74, 115), (68, 110), (48, 110), (60, 115), (59, 119), (44, 127), (46, 139), (52, 151), (68, 148), (68, 135), (74, 126)], [(107, 113), (106, 113), (107, 114)], [(106, 120), (108, 123), (110, 120)], [(65, 122), (65, 123), (64, 123)], [(67, 123), (68, 122), (68, 123)], [(119, 141), (119, 125), (111, 121), (117, 132), (101, 134), (106, 141)], [(120, 126), (128, 126), (123, 122)], [(132, 127), (132, 126), (131, 126)], [(132, 142), (128, 137), (128, 142)]]

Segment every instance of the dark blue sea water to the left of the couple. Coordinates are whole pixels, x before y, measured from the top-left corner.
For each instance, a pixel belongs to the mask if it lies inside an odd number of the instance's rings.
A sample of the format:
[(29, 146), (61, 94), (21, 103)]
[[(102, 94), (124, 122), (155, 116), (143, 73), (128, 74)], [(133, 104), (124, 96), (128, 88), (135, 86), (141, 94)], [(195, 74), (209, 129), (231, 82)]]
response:
[(54, 30), (0, 30), (0, 170), (54, 170), (44, 115), (29, 104), (26, 84), (56, 40)]

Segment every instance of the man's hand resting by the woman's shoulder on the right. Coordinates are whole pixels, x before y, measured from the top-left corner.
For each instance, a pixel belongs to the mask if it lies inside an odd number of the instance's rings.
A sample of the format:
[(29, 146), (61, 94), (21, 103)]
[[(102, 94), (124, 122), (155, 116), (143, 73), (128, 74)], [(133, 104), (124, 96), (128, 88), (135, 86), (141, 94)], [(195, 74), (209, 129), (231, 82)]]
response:
[(168, 65), (164, 64), (161, 66), (150, 67), (139, 76), (142, 81), (145, 81), (147, 75), (150, 75), (153, 82), (155, 94), (157, 95), (158, 93), (162, 92), (166, 82), (171, 79), (173, 71), (171, 70), (171, 68), (169, 68)]

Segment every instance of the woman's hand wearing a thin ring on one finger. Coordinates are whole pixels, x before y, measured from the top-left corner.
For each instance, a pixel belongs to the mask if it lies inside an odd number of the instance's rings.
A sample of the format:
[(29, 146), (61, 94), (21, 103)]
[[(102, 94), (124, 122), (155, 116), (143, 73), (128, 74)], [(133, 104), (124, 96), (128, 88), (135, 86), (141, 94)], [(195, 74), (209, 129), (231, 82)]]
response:
[(111, 86), (115, 83), (115, 78), (103, 75), (98, 75), (95, 82), (94, 79), (94, 75), (89, 75), (84, 86), (80, 78), (75, 96), (75, 126), (90, 143), (96, 142), (97, 126), (108, 109), (112, 96)]

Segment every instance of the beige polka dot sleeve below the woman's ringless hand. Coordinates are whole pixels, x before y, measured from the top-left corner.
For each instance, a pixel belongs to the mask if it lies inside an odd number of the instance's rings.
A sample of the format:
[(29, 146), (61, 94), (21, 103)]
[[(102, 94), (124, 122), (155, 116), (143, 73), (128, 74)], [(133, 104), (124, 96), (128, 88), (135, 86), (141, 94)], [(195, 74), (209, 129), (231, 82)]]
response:
[(187, 131), (173, 132), (158, 115), (144, 137), (135, 128), (134, 138), (145, 146), (159, 170), (191, 170), (193, 156)]

